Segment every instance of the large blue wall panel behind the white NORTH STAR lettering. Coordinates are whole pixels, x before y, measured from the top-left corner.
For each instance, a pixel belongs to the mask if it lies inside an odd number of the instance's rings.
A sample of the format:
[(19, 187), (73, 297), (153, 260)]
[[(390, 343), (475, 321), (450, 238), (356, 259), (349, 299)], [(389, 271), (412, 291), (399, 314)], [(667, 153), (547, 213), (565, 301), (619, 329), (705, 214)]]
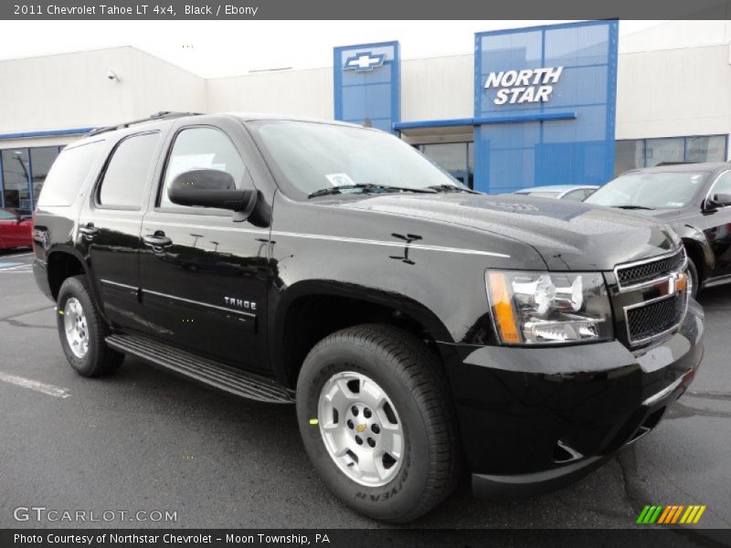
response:
[[(475, 119), (525, 120), (477, 125), (475, 189), (495, 194), (541, 184), (603, 184), (612, 177), (618, 30), (617, 21), (590, 21), (475, 35)], [(485, 88), (491, 73), (559, 67), (555, 82), (532, 73), (529, 86), (501, 80)], [(545, 84), (552, 86), (546, 100), (495, 103), (503, 88)], [(567, 111), (576, 118), (540, 120)]]

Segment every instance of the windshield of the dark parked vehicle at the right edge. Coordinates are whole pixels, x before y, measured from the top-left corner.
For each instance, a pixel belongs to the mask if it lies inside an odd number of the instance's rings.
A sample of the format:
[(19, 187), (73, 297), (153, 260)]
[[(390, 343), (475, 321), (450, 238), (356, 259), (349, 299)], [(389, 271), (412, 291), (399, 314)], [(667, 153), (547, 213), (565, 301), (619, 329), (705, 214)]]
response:
[(703, 186), (704, 172), (661, 172), (620, 175), (605, 184), (588, 204), (647, 209), (677, 209), (691, 203)]

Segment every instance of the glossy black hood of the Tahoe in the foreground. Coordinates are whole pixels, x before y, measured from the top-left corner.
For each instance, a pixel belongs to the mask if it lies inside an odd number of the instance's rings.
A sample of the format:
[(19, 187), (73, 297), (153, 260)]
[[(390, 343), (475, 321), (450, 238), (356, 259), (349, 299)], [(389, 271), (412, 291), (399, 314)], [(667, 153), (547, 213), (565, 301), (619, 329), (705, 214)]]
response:
[(334, 196), (328, 205), (410, 216), (522, 241), (548, 269), (609, 270), (675, 248), (662, 221), (629, 211), (522, 195), (385, 194)]

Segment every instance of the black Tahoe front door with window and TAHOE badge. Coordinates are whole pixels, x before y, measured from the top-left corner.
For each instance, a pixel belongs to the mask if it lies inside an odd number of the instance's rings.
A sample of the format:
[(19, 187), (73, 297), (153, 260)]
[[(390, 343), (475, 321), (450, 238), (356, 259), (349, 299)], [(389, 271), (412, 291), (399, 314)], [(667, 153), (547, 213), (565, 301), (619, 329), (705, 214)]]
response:
[(269, 230), (235, 222), (230, 211), (173, 204), (175, 175), (196, 168), (253, 182), (227, 132), (178, 127), (154, 207), (143, 218), (141, 274), (145, 315), (175, 346), (228, 364), (265, 371)]

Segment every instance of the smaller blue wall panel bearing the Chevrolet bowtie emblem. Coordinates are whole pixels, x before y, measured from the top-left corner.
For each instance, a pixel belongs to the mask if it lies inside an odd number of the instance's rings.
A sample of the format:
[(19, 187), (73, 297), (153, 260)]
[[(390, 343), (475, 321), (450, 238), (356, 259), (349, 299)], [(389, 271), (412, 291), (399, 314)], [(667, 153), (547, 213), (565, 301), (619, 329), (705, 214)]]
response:
[(334, 48), (335, 120), (393, 132), (401, 120), (398, 42)]

